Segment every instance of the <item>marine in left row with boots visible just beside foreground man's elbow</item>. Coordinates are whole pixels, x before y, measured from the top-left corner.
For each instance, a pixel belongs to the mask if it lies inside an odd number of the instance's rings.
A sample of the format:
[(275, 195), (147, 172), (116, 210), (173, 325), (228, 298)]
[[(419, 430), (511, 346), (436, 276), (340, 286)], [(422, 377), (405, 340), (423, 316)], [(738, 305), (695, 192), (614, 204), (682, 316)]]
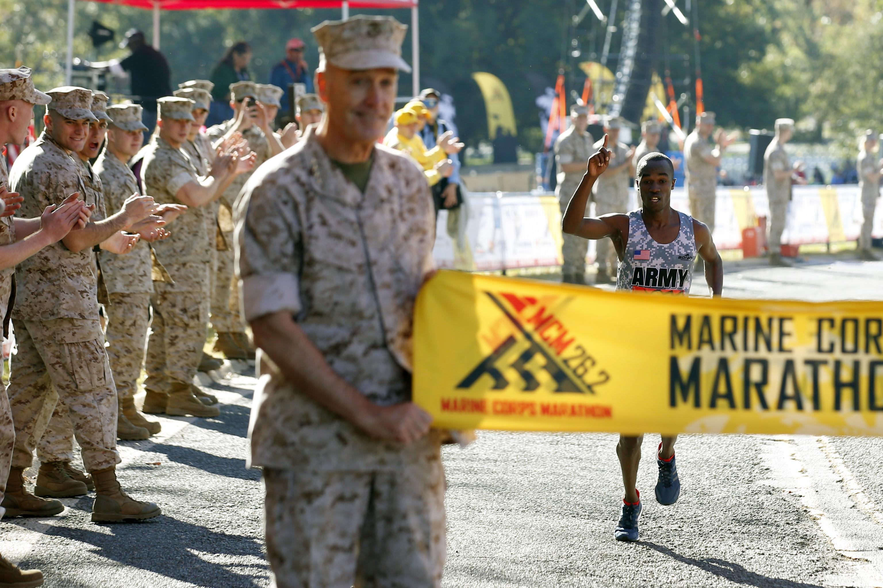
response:
[[(236, 103), (233, 118), (221, 124), (215, 124), (206, 131), (213, 143), (219, 142), (225, 135), (237, 128), (237, 118), (241, 108), (245, 108), (243, 100), (257, 99), (259, 89), (253, 82), (237, 82), (230, 85), (230, 98)], [(247, 115), (246, 115), (247, 116)], [(257, 124), (249, 125), (241, 130), (249, 148), (257, 155), (254, 168), (260, 167), (271, 156), (268, 137)], [(223, 242), (223, 249), (217, 251), (217, 268), (215, 271), (215, 292), (212, 295), (212, 326), (217, 331), (218, 339), (215, 351), (225, 354), (230, 359), (253, 359), (254, 349), (245, 335), (245, 321), (239, 315), (238, 286), (233, 279), (234, 252), (230, 247), (233, 242), (233, 205), (245, 181), (251, 174), (237, 177), (218, 201), (217, 224), (220, 232), (218, 242)]]

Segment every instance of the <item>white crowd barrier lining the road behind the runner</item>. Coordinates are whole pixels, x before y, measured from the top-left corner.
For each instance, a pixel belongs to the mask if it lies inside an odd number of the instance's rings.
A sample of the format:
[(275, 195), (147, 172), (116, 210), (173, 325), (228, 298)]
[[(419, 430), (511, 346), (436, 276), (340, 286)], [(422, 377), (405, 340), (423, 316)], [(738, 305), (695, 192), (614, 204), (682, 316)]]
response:
[[(638, 208), (630, 190), (629, 209)], [(690, 212), (687, 193), (675, 188), (672, 206)], [(592, 205), (592, 210), (594, 205)], [(466, 215), (466, 219), (457, 217)], [(762, 186), (717, 189), (714, 242), (719, 249), (740, 249), (742, 230), (769, 218)], [(857, 185), (795, 186), (782, 242), (793, 245), (855, 241), (861, 230), (862, 202)], [(878, 200), (873, 236), (883, 237), (883, 202)], [(442, 268), (493, 271), (560, 265), (561, 211), (554, 194), (477, 192), (466, 195), (460, 212), (439, 213), (433, 255)], [(588, 261), (594, 261), (594, 242)]]

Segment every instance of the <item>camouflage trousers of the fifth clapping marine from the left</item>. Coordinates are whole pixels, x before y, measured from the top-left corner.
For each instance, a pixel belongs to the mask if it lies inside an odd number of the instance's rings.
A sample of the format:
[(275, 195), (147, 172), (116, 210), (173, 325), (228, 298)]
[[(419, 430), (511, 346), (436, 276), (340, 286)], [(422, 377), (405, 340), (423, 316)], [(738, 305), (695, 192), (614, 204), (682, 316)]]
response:
[(154, 320), (147, 340), (147, 380), (144, 387), (168, 392), (172, 383), (192, 383), (202, 359), (208, 324), (205, 292), (177, 292), (154, 283), (150, 297)]

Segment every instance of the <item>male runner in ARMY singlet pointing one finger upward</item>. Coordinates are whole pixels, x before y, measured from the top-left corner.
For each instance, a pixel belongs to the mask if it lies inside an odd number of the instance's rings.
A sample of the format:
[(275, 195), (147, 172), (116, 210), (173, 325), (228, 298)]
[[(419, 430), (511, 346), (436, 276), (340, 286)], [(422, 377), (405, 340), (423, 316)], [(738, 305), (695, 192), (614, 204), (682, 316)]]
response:
[[(611, 213), (598, 218), (583, 218), (592, 185), (610, 163), (607, 145), (608, 137), (605, 135), (604, 145), (589, 158), (583, 180), (564, 213), (564, 233), (585, 239), (610, 237), (619, 257), (617, 290), (688, 294), (693, 277), (693, 261), (698, 254), (706, 262), (708, 287), (714, 296), (720, 296), (723, 263), (714, 247), (711, 231), (690, 215), (675, 211), (670, 206), (671, 189), (675, 187), (675, 166), (662, 153), (647, 153), (638, 162), (635, 185), (641, 197), (641, 209), (628, 214)], [(678, 275), (685, 275), (686, 278), (675, 287), (668, 284), (663, 287), (655, 279), (644, 278), (660, 272), (644, 272), (644, 268), (677, 269)], [(636, 272), (636, 269), (642, 271)], [(681, 494), (681, 482), (675, 467), (676, 439), (677, 435), (663, 436), (656, 451), (656, 463), (659, 465), (656, 501), (665, 506), (674, 504)], [(614, 533), (619, 541), (638, 540), (638, 517), (642, 506), (635, 484), (643, 441), (644, 435), (620, 435), (616, 445), (625, 485), (623, 512)]]

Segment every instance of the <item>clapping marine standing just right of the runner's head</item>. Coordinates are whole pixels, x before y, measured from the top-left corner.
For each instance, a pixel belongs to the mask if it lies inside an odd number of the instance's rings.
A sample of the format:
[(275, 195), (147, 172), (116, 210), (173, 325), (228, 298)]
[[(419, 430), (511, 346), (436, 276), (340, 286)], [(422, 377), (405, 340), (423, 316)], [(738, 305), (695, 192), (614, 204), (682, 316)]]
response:
[(690, 213), (714, 231), (714, 210), (717, 190), (717, 168), (726, 144), (715, 147), (712, 141), (714, 113), (704, 112), (696, 117), (696, 128), (683, 142), (683, 157)]

